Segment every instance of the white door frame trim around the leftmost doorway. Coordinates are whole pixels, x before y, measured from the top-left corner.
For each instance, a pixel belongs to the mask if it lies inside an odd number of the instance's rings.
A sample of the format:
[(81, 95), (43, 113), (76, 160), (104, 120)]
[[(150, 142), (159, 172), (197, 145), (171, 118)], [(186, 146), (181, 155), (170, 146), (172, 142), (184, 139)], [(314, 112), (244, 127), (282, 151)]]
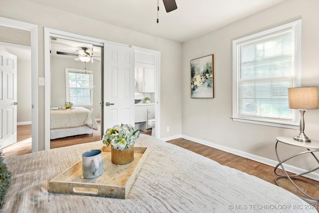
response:
[(38, 151), (38, 27), (35, 24), (0, 17), (0, 25), (30, 31), (31, 34), (31, 102), (32, 152)]

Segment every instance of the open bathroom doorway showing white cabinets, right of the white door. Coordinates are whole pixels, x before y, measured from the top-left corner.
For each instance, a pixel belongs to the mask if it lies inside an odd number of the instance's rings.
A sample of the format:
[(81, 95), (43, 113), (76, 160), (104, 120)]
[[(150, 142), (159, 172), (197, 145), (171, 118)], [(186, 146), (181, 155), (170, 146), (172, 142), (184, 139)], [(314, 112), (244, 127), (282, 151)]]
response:
[(132, 47), (135, 49), (135, 126), (143, 131), (151, 129), (152, 136), (160, 138), (160, 51)]

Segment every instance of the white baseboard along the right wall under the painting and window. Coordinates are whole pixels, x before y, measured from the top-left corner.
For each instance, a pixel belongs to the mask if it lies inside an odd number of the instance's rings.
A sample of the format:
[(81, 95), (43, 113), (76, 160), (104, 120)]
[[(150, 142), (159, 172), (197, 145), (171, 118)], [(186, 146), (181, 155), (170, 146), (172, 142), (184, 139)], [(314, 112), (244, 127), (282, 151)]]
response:
[[(219, 145), (219, 144), (214, 144), (214, 143), (211, 143), (211, 142), (208, 142), (208, 141), (203, 141), (203, 140), (200, 140), (200, 139), (197, 139), (197, 138), (192, 138), (192, 137), (189, 137), (187, 135), (181, 135), (181, 137), (179, 137), (179, 138), (184, 138), (184, 139), (187, 139), (187, 140), (190, 140), (190, 141), (193, 141), (193, 142), (196, 142), (196, 143), (208, 146), (208, 147), (212, 147), (212, 148), (215, 148), (215, 149), (218, 149), (218, 150), (221, 150), (221, 151), (225, 151), (225, 152), (228, 152), (228, 153), (231, 153), (231, 154), (243, 157), (243, 158), (247, 158), (247, 159), (262, 163), (262, 164), (266, 164), (268, 166), (276, 167), (277, 164), (278, 164), (278, 161), (274, 161), (274, 160), (271, 160), (271, 159), (268, 159), (268, 158), (264, 158), (264, 157), (260, 157), (260, 156), (257, 156), (257, 155), (252, 155), (252, 154), (247, 153), (247, 152), (243, 152), (243, 151), (240, 151), (240, 150), (232, 149), (232, 148), (225, 147), (225, 146), (222, 146), (222, 145)], [(176, 139), (176, 138), (174, 138), (174, 139)], [(173, 140), (173, 139), (169, 139), (169, 140)], [(165, 140), (165, 141), (167, 141), (167, 140)], [(275, 150), (274, 150), (274, 152), (275, 152)], [(283, 165), (284, 165), (284, 167), (285, 167), (287, 172), (291, 172), (291, 173), (294, 173), (294, 174), (300, 174), (300, 173), (306, 172), (305, 169), (301, 169), (301, 168), (298, 168), (298, 167), (295, 167), (295, 166), (291, 166), (291, 165), (288, 165), (288, 164), (283, 164)], [(319, 181), (319, 174), (318, 173), (310, 173), (310, 174), (304, 175), (304, 177), (312, 179), (312, 180), (315, 180), (315, 181)]]

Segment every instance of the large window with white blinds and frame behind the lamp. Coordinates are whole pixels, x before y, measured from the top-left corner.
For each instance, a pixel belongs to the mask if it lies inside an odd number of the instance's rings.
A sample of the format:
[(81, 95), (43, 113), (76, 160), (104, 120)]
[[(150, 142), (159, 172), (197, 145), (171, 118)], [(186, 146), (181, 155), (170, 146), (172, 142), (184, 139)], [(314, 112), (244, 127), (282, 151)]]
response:
[(300, 86), (301, 20), (233, 41), (234, 121), (294, 128), (288, 88)]

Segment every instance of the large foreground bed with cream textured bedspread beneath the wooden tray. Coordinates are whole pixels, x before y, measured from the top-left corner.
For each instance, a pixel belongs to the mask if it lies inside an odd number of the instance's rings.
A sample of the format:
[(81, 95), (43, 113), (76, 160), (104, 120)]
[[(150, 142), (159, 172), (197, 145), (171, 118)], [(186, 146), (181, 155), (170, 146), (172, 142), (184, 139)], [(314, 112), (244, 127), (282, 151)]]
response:
[(317, 213), (294, 194), (215, 161), (140, 135), (149, 155), (124, 199), (51, 194), (48, 181), (101, 148), (102, 141), (5, 158), (12, 171), (3, 212), (39, 213)]

